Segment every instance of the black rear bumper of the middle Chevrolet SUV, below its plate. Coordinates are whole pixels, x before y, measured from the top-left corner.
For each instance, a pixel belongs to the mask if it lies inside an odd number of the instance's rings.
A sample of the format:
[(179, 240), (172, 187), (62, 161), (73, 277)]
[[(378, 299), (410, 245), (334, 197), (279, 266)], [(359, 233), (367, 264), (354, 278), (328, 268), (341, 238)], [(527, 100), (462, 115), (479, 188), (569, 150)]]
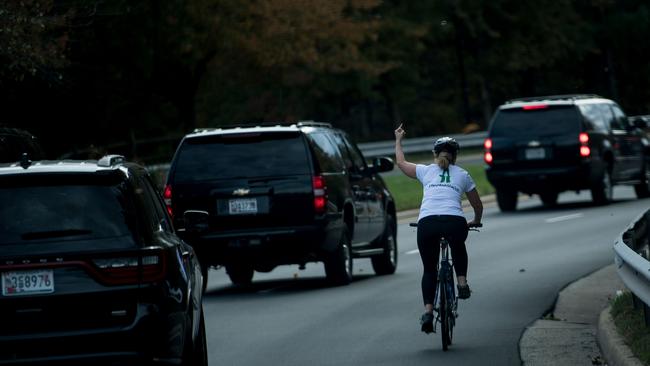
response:
[(323, 260), (336, 249), (343, 228), (341, 220), (327, 225), (219, 231), (184, 239), (208, 265), (247, 263), (272, 268)]

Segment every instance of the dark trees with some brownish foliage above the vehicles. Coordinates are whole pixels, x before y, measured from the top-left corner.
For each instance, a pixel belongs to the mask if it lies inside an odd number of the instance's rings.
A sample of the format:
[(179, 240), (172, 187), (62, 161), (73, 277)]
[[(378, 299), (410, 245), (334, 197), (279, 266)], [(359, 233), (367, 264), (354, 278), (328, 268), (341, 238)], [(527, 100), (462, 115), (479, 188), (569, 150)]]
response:
[(457, 133), (547, 94), (650, 113), (644, 0), (16, 0), (0, 27), (0, 123), (53, 157), (161, 162), (239, 123)]

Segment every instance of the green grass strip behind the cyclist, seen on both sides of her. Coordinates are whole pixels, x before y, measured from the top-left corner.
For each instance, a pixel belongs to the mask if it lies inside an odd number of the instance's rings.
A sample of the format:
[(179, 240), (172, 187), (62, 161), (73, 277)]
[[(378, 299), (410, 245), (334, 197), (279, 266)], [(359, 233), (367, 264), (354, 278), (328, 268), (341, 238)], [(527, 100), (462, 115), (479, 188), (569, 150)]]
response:
[[(462, 166), (474, 179), (476, 189), (481, 196), (494, 193), (494, 187), (485, 176), (483, 164), (465, 164)], [(395, 168), (398, 169), (399, 168)], [(384, 181), (395, 197), (398, 211), (410, 210), (420, 207), (422, 202), (422, 184), (417, 179), (412, 179), (404, 174), (391, 174), (384, 176)]]

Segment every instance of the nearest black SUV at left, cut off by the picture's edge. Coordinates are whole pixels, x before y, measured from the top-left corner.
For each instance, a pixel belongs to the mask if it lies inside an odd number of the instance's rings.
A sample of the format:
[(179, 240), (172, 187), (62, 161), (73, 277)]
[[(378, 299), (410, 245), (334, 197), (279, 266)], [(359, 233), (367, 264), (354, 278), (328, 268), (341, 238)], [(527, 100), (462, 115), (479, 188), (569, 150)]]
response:
[(207, 365), (202, 274), (146, 171), (0, 166), (0, 365)]

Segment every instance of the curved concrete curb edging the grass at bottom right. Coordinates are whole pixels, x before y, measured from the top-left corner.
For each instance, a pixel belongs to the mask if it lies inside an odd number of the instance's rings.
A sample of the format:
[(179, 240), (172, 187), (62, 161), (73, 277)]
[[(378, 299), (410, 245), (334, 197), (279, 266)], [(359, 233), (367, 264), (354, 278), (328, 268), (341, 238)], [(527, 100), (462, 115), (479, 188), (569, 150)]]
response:
[(643, 366), (618, 334), (608, 306), (598, 318), (598, 345), (609, 366)]

